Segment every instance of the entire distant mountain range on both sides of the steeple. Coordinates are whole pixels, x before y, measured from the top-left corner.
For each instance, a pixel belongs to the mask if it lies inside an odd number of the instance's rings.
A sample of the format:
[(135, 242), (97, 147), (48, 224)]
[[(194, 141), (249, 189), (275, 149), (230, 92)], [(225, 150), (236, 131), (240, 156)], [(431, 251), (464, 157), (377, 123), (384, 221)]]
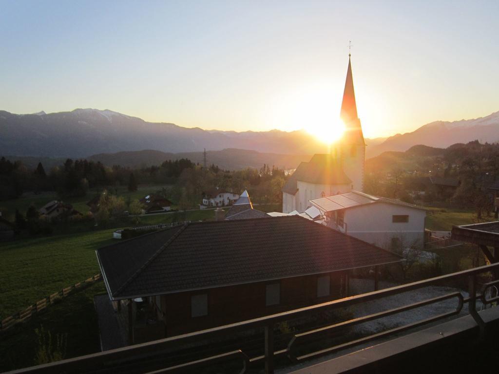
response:
[[(366, 139), (366, 156), (406, 151), (423, 144), (446, 148), (472, 140), (499, 141), (499, 112), (455, 122), (436, 121), (405, 134)], [(83, 158), (102, 154), (155, 150), (169, 154), (203, 149), (252, 150), (281, 155), (312, 155), (327, 146), (304, 130), (236, 132), (185, 128), (172, 123), (146, 122), (111, 110), (12, 114), (0, 111), (0, 154), (16, 157)], [(234, 151), (233, 151), (234, 152)], [(277, 164), (276, 164), (277, 165)]]

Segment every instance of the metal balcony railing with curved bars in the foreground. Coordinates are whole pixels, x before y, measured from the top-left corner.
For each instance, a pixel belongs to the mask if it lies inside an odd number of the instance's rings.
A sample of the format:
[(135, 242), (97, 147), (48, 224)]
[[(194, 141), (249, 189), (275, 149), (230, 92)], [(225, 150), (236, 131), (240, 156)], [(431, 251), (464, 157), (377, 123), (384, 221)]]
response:
[[(225, 325), (221, 327), (216, 327), (208, 330), (198, 331), (194, 333), (179, 335), (176, 337), (166, 338), (162, 340), (157, 340), (154, 342), (143, 343), (131, 347), (120, 348), (112, 351), (101, 352), (97, 354), (92, 354), (88, 356), (76, 357), (73, 359), (63, 360), (56, 363), (40, 365), (37, 367), (31, 367), (26, 369), (21, 369), (12, 373), (56, 373), (56, 372), (66, 372), (66, 373), (103, 373), (109, 370), (126, 372), (127, 370), (134, 370), (140, 373), (179, 373), (185, 371), (192, 371), (195, 368), (209, 367), (213, 364), (220, 364), (227, 361), (234, 361), (235, 359), (241, 360), (241, 372), (245, 373), (247, 369), (255, 364), (264, 364), (265, 373), (271, 374), (274, 372), (275, 359), (279, 357), (286, 357), (291, 360), (291, 362), (301, 362), (311, 358), (315, 358), (322, 355), (331, 354), (340, 351), (345, 348), (353, 347), (361, 343), (369, 342), (374, 339), (385, 337), (393, 333), (398, 333), (404, 330), (408, 330), (423, 324), (438, 321), (440, 319), (457, 315), (463, 309), (464, 304), (468, 303), (468, 309), (472, 317), (474, 318), (477, 325), (480, 327), (481, 337), (483, 337), (485, 330), (485, 323), (480, 317), (476, 309), (476, 301), (481, 300), (484, 304), (491, 304), (499, 301), (499, 296), (487, 299), (486, 291), (488, 288), (496, 286), (499, 284), (499, 280), (495, 280), (489, 283), (485, 283), (481, 292), (478, 292), (478, 282), (477, 275), (492, 272), (498, 273), (499, 263), (492, 265), (486, 265), (479, 268), (474, 268), (470, 270), (465, 270), (457, 273), (452, 273), (448, 275), (443, 275), (435, 278), (430, 278), (418, 282), (413, 282), (405, 285), (400, 285), (396, 287), (387, 288), (380, 291), (369, 292), (361, 295), (351, 296), (340, 300), (334, 300), (323, 304), (317, 304), (305, 308), (290, 310), (287, 312), (282, 312), (270, 316), (265, 316), (261, 318), (256, 318), (244, 322), (234, 323), (230, 325)], [(324, 311), (331, 311), (338, 308), (347, 308), (355, 304), (378, 300), (383, 297), (401, 294), (407, 291), (412, 291), (422, 287), (434, 285), (436, 283), (441, 283), (444, 281), (456, 280), (456, 279), (468, 278), (469, 281), (469, 295), (467, 297), (463, 296), (461, 292), (451, 292), (446, 295), (433, 297), (427, 300), (419, 301), (409, 305), (404, 305), (395, 309), (385, 310), (382, 312), (370, 314), (367, 316), (351, 319), (341, 323), (335, 323), (328, 326), (323, 326), (321, 328), (316, 328), (303, 333), (295, 333), (290, 339), (287, 347), (284, 349), (274, 350), (274, 328), (277, 324), (283, 323), (285, 321), (290, 321), (297, 318), (303, 318), (311, 316)], [(421, 321), (413, 322), (404, 326), (396, 327), (388, 331), (384, 331), (377, 334), (372, 334), (360, 339), (356, 339), (351, 342), (334, 345), (326, 349), (318, 350), (315, 352), (299, 355), (297, 353), (297, 347), (306, 341), (313, 340), (320, 334), (335, 332), (338, 329), (353, 326), (356, 324), (374, 321), (382, 317), (387, 317), (397, 313), (406, 312), (415, 308), (422, 306), (428, 306), (445, 300), (456, 299), (456, 308), (450, 310), (449, 312), (432, 316)], [(263, 355), (249, 357), (248, 354), (244, 352), (244, 349), (228, 349), (227, 352), (217, 352), (209, 357), (199, 358), (196, 355), (190, 358), (186, 355), (179, 355), (175, 357), (176, 361), (172, 364), (166, 366), (160, 366), (158, 368), (158, 358), (165, 358), (168, 350), (178, 347), (187, 347), (194, 342), (206, 341), (207, 339), (213, 339), (216, 337), (227, 337), (240, 332), (254, 331), (255, 329), (264, 330), (264, 349)], [(210, 343), (211, 346), (216, 343)], [(196, 354), (196, 353), (195, 353)]]

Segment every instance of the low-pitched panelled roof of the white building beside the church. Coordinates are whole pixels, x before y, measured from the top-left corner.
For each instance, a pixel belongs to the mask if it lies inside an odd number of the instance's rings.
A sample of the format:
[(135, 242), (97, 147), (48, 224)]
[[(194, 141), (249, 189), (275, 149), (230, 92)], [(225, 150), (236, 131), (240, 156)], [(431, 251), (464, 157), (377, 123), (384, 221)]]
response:
[(389, 204), (402, 205), (402, 206), (407, 206), (409, 208), (426, 210), (421, 206), (409, 204), (407, 202), (400, 201), (394, 198), (373, 196), (359, 191), (350, 191), (347, 193), (340, 193), (332, 196), (319, 197), (311, 199), (309, 201), (323, 212), (348, 209), (354, 206), (367, 205), (376, 202), (386, 202)]

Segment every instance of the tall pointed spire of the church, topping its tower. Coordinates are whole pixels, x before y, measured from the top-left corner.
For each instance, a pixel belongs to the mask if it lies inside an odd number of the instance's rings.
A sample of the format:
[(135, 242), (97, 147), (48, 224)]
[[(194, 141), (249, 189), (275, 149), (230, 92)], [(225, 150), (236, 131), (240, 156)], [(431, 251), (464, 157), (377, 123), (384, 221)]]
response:
[(352, 62), (348, 54), (348, 70), (346, 72), (345, 90), (341, 102), (340, 118), (345, 124), (343, 142), (346, 144), (364, 145), (364, 135), (357, 115), (355, 90), (353, 89)]

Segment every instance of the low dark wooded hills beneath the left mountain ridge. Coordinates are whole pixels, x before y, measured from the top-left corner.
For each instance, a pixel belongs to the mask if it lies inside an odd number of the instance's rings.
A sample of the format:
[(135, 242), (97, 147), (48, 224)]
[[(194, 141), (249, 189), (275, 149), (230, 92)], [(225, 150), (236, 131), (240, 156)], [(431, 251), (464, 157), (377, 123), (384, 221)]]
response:
[[(224, 149), (222, 151), (206, 151), (208, 165), (215, 164), (225, 170), (241, 170), (245, 168), (259, 169), (263, 164), (275, 165), (279, 168), (294, 169), (300, 162), (310, 160), (310, 155), (282, 155), (275, 153), (260, 153), (241, 149)], [(104, 165), (121, 165), (141, 167), (161, 165), (166, 160), (189, 159), (194, 163), (203, 164), (203, 152), (165, 153), (160, 151), (132, 151), (104, 153), (88, 157), (88, 160), (100, 161)]]

